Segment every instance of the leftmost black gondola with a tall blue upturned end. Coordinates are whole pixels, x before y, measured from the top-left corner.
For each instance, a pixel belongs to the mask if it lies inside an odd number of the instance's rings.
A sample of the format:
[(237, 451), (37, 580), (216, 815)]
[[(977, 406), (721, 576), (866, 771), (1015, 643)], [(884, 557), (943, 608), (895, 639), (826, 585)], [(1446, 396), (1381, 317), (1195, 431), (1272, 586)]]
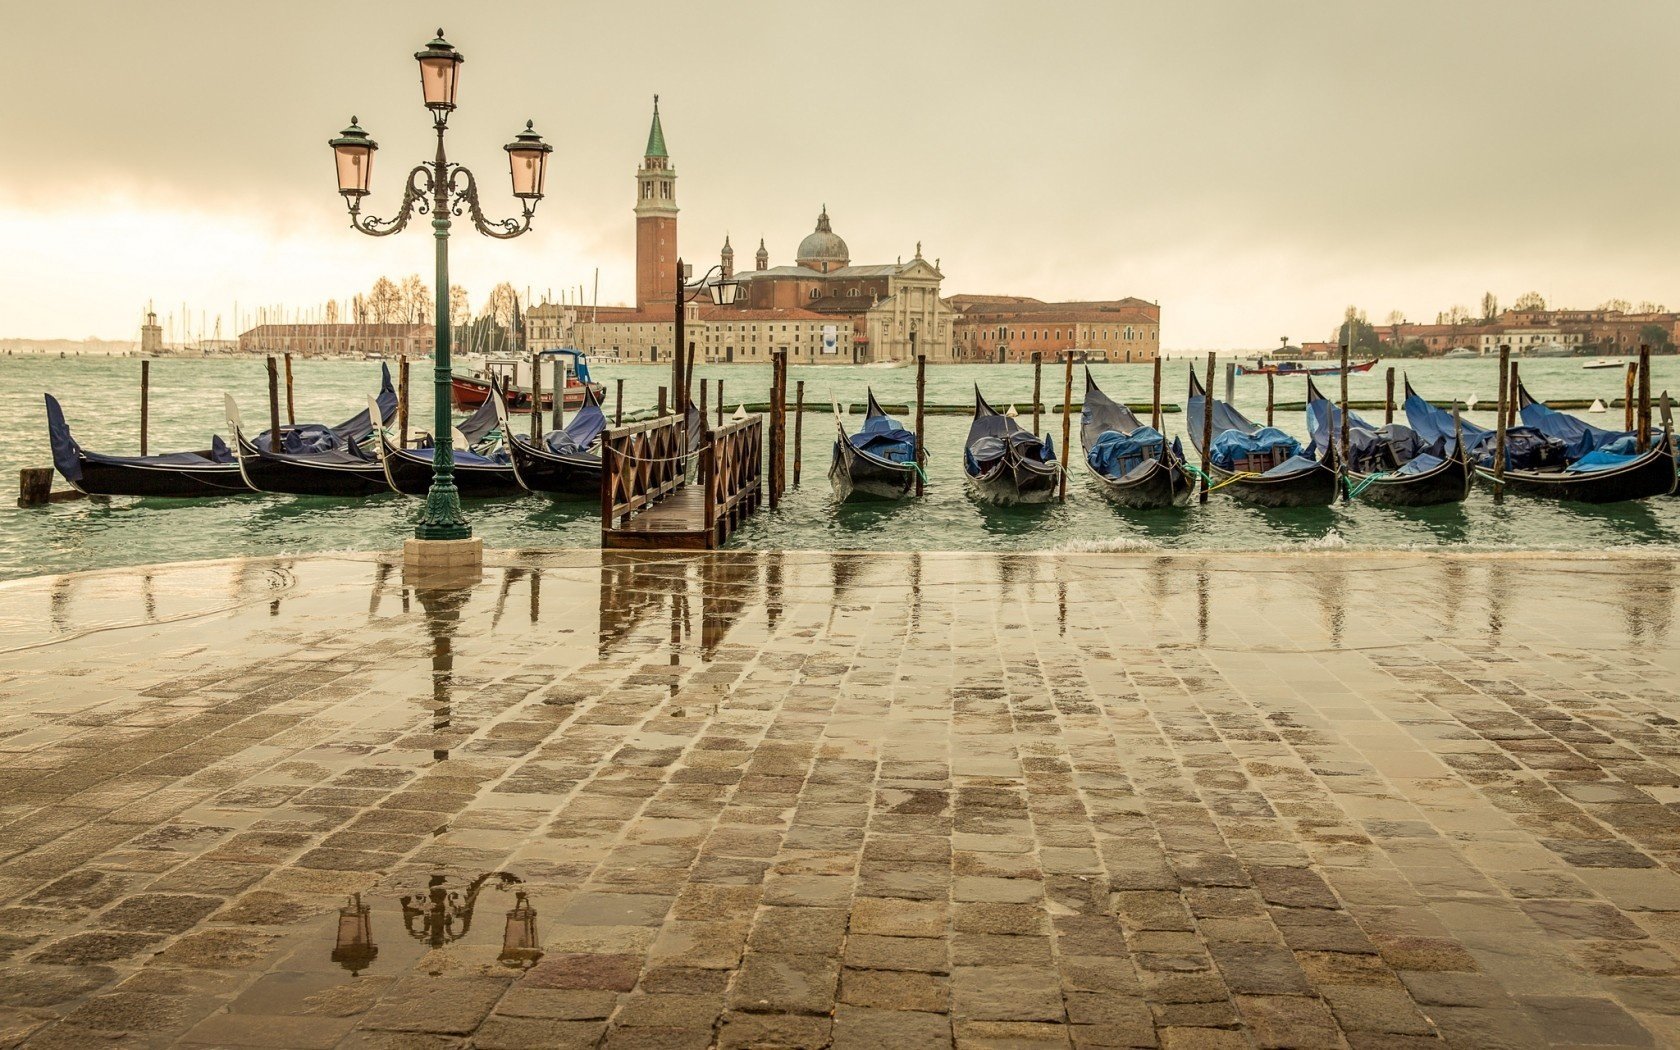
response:
[(210, 438), (203, 452), (166, 452), (161, 455), (106, 455), (87, 452), (71, 435), (64, 410), (50, 393), (47, 398), (47, 440), (52, 465), (64, 480), (89, 496), (156, 496), (193, 499), (250, 492), (239, 472), (234, 452), (220, 437)]

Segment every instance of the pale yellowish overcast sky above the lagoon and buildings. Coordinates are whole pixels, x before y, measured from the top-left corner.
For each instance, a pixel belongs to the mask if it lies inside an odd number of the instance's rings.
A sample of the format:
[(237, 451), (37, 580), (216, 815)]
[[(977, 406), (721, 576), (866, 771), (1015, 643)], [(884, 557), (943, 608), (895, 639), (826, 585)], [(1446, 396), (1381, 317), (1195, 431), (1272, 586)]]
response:
[[(430, 158), (413, 52), (467, 57), (450, 156), (514, 213), (501, 146), (554, 144), (534, 230), (457, 223), (452, 277), (633, 296), (660, 96), (679, 242), (791, 262), (827, 203), (853, 262), (944, 294), (1137, 296), (1168, 349), (1611, 297), (1680, 307), (1680, 3), (968, 0), (724, 5), (15, 3), (0, 336), (316, 309), (425, 274), (423, 223), (354, 234), (326, 139), (380, 141), (368, 210)], [(22, 91), (18, 91), (22, 87)], [(575, 292), (571, 292), (575, 294)], [(205, 333), (208, 334), (208, 333)]]

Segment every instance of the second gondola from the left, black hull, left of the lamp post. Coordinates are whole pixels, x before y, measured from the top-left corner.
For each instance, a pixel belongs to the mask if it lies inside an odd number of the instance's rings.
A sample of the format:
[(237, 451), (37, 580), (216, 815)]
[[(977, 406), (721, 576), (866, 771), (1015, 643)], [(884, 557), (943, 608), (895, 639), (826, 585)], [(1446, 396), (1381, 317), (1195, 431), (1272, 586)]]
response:
[[(396, 390), (391, 388), (390, 370), (383, 373), (385, 381), (376, 398), (381, 418), (396, 410)], [(331, 444), (306, 445), (301, 435), (286, 433), (282, 428), (282, 447), (274, 450), (267, 432), (255, 438), (245, 437), (239, 405), (230, 395), (225, 396), (225, 405), (239, 470), (252, 489), (286, 496), (378, 496), (391, 491), (385, 480), (385, 467), (368, 442), (373, 435), (370, 412), (360, 412), (331, 427)]]

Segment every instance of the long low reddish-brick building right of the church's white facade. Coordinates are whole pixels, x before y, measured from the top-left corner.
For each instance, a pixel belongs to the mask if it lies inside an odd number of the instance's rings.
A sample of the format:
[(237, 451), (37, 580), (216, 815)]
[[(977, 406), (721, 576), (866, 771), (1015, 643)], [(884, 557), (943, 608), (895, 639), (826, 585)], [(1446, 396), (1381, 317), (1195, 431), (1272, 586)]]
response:
[(959, 361), (1154, 361), (1161, 354), (1161, 304), (1146, 299), (1043, 302), (1028, 296), (951, 296)]

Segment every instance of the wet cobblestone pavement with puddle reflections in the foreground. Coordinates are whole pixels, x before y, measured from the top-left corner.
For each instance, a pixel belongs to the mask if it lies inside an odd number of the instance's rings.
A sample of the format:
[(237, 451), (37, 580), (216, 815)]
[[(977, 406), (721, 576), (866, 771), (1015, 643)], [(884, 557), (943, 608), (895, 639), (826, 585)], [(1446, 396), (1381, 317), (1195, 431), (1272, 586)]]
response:
[(1680, 1045), (1677, 566), (0, 588), (0, 1045)]

